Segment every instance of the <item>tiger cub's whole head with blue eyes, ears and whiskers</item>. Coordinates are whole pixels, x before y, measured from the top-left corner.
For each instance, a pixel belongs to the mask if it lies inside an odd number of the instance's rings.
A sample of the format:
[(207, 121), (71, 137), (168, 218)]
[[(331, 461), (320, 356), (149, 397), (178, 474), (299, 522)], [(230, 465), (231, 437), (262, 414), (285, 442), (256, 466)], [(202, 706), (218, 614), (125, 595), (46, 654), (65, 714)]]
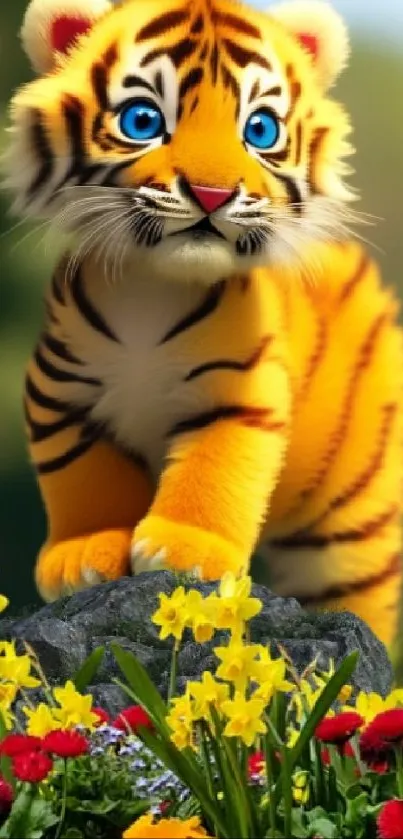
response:
[(15, 208), (80, 254), (215, 282), (343, 235), (347, 42), (320, 0), (32, 0), (22, 35)]

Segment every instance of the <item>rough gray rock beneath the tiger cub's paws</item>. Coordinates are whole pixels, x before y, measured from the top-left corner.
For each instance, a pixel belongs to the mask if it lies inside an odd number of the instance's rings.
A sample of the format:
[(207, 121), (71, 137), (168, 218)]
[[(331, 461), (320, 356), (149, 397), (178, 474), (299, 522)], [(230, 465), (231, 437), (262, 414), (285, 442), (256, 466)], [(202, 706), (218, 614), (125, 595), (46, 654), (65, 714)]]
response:
[[(71, 678), (92, 650), (105, 645), (104, 661), (89, 691), (97, 705), (116, 713), (131, 700), (112, 682), (121, 673), (111, 642), (134, 653), (166, 695), (172, 643), (171, 639), (159, 639), (150, 617), (158, 607), (159, 592), (170, 594), (177, 585), (177, 578), (168, 572), (105, 583), (56, 601), (29, 617), (0, 621), (0, 639), (28, 641), (51, 684)], [(216, 588), (215, 584), (192, 587), (204, 594)], [(359, 650), (354, 685), (382, 695), (390, 690), (392, 668), (386, 650), (363, 621), (348, 612), (305, 612), (295, 599), (277, 597), (260, 585), (253, 587), (253, 594), (262, 601), (263, 609), (250, 623), (252, 641), (270, 644), (272, 652), (276, 652), (277, 642), (281, 643), (299, 672), (315, 657), (320, 667), (327, 667), (331, 658), (337, 664)], [(187, 679), (197, 679), (203, 670), (215, 668), (213, 647), (225, 637), (220, 633), (213, 642), (199, 645), (186, 635), (178, 659), (179, 689)]]

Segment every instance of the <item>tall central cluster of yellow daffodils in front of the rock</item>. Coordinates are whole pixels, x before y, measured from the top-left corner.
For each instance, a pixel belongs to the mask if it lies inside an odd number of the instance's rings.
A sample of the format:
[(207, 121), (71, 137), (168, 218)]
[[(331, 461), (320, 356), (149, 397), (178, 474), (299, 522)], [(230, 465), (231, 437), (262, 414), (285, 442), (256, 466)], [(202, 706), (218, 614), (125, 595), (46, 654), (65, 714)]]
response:
[(274, 694), (295, 687), (285, 678), (283, 659), (272, 659), (266, 647), (245, 641), (247, 622), (262, 608), (250, 591), (249, 577), (226, 574), (218, 594), (206, 598), (197, 591), (186, 594), (182, 586), (171, 597), (160, 595), (160, 608), (152, 620), (161, 627), (161, 638), (173, 635), (178, 643), (188, 627), (201, 643), (210, 641), (216, 629), (230, 631), (229, 643), (214, 648), (220, 662), (215, 677), (203, 673), (201, 681), (187, 683), (184, 696), (172, 700), (167, 722), (178, 749), (196, 748), (198, 723), (205, 721), (214, 728), (213, 709), (226, 737), (238, 737), (252, 746), (267, 730), (264, 713)]

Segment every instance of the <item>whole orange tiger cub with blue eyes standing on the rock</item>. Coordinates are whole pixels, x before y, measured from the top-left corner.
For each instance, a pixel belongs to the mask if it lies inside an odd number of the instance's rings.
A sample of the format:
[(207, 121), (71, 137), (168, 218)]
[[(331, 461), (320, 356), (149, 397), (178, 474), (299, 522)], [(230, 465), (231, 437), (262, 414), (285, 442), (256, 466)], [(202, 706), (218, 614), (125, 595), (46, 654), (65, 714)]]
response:
[(32, 0), (13, 208), (68, 232), (26, 379), (46, 600), (248, 570), (396, 629), (402, 334), (351, 239), (320, 0)]

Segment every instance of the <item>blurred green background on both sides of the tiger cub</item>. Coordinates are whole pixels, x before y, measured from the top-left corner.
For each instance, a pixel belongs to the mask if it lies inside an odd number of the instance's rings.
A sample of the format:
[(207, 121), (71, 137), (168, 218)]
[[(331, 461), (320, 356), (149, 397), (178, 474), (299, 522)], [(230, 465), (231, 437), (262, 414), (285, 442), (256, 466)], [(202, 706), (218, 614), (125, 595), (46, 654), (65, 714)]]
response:
[[(31, 78), (17, 37), (26, 2), (0, 0), (0, 145), (11, 91)], [(337, 8), (337, 0), (334, 5)], [(383, 5), (379, 2), (380, 8)], [(400, 286), (403, 298), (403, 55), (398, 41), (358, 27), (350, 68), (336, 94), (355, 126), (354, 185), (363, 195), (359, 209), (380, 219), (360, 232), (380, 249), (375, 255), (384, 275)], [(45, 533), (23, 434), (23, 376), (41, 324), (42, 290), (56, 251), (53, 247), (53, 252), (45, 252), (40, 236), (28, 225), (13, 230), (15, 222), (7, 215), (7, 195), (0, 193), (0, 591), (11, 599), (12, 609), (20, 611), (38, 602), (32, 569)]]

